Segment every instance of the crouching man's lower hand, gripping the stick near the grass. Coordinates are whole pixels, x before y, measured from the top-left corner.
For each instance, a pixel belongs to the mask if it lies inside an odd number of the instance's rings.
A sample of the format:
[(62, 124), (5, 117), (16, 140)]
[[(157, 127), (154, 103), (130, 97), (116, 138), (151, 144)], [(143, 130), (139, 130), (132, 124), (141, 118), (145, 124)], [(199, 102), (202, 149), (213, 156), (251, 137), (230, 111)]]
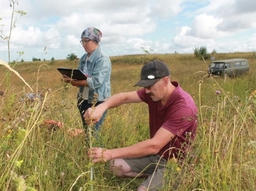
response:
[(107, 162), (110, 160), (109, 150), (105, 148), (90, 148), (87, 152), (87, 156), (92, 159), (93, 163), (97, 162)]

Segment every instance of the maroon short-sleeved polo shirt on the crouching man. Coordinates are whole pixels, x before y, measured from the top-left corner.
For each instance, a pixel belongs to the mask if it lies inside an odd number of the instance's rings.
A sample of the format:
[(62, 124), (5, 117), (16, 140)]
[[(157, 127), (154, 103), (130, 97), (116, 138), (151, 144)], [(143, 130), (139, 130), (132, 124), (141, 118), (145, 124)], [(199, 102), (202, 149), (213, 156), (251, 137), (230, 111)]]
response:
[(179, 86), (179, 83), (171, 83), (176, 88), (164, 106), (160, 101), (153, 102), (145, 93), (145, 89), (137, 90), (137, 94), (148, 104), (150, 138), (155, 136), (160, 127), (175, 134), (158, 154), (163, 155), (165, 159), (183, 159), (195, 139), (198, 111), (193, 98)]

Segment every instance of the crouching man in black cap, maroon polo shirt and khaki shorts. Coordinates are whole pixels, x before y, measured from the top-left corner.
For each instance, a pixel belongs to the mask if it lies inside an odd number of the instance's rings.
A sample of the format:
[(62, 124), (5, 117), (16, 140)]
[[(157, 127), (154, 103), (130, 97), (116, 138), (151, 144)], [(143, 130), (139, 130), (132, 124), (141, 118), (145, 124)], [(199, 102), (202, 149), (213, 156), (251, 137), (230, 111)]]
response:
[(133, 92), (119, 93), (95, 107), (84, 118), (93, 123), (100, 120), (108, 108), (125, 103), (146, 102), (149, 110), (150, 139), (135, 145), (102, 149), (91, 148), (88, 157), (93, 163), (109, 161), (110, 169), (118, 177), (147, 178), (138, 191), (161, 189), (168, 159), (182, 160), (191, 148), (197, 127), (197, 108), (192, 97), (177, 82), (170, 82), (170, 72), (161, 61), (151, 61), (141, 69), (141, 80), (135, 86), (144, 87)]

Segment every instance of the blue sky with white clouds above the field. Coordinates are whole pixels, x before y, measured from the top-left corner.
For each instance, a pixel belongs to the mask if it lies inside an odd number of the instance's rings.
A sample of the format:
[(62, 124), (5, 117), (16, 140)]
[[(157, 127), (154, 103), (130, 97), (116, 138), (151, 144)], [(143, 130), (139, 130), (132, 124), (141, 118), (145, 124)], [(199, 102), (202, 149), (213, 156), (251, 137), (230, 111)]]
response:
[[(0, 0), (2, 36), (10, 32), (12, 8)], [(20, 0), (14, 8), (27, 14), (12, 31), (11, 61), (81, 57), (81, 32), (89, 26), (101, 30), (109, 56), (143, 54), (141, 47), (163, 54), (200, 46), (217, 53), (256, 51), (255, 0)], [(2, 38), (0, 59), (8, 62)]]

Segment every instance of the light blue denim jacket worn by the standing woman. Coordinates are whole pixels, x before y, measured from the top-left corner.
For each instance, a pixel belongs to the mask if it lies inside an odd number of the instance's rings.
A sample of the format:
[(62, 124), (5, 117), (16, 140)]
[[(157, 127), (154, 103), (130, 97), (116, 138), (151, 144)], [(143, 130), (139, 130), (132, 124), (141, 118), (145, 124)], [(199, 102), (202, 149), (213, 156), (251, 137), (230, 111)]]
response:
[[(85, 58), (88, 53), (85, 53), (80, 60), (78, 69), (83, 71), (85, 66)], [(98, 46), (87, 61), (88, 77), (87, 83), (89, 86), (88, 103), (92, 103), (94, 94), (98, 94), (97, 102), (103, 101), (111, 96), (110, 74), (111, 74), (111, 61), (108, 55), (101, 50)], [(80, 99), (83, 86), (79, 87), (77, 98)]]

